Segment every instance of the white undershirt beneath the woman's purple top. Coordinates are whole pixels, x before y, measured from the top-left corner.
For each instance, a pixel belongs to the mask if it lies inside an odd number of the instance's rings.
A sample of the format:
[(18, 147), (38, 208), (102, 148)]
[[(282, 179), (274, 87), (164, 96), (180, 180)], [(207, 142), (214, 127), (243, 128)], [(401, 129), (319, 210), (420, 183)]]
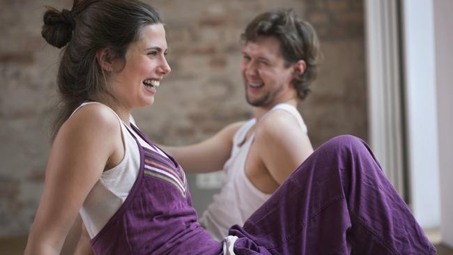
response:
[[(77, 107), (71, 116), (74, 115), (77, 110), (89, 104), (100, 103), (85, 102)], [(128, 197), (132, 185), (134, 185), (135, 180), (137, 179), (140, 169), (140, 152), (132, 134), (135, 135), (135, 138), (137, 138), (141, 146), (156, 151), (149, 146), (146, 141), (141, 139), (132, 128), (123, 123), (115, 111), (112, 110), (112, 112), (118, 118), (119, 125), (121, 126), (121, 136), (123, 137), (124, 142), (124, 157), (116, 167), (102, 172), (100, 179), (95, 183), (88, 196), (86, 196), (84, 204), (79, 210), (90, 238), (94, 238), (105, 224), (107, 224), (118, 208), (121, 207)], [(135, 124), (132, 116), (130, 116), (130, 123)], [(130, 130), (132, 134), (130, 134), (128, 130)], [(161, 150), (158, 150), (158, 153), (167, 157)], [(100, 210), (100, 208), (102, 208), (102, 210)]]

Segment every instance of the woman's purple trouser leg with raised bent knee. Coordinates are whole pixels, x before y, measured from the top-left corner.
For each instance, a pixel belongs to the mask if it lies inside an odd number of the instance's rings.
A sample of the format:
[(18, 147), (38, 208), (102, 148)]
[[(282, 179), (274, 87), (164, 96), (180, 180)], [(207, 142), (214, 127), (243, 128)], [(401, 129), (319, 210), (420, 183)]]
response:
[(362, 140), (323, 144), (245, 222), (236, 254), (436, 254)]

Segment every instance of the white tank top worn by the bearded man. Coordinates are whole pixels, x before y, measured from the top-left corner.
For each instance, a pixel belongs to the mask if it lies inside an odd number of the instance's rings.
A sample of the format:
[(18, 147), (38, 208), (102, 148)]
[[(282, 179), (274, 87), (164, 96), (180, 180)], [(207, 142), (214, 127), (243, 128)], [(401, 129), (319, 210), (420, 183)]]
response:
[[(275, 105), (262, 118), (277, 109), (291, 113), (297, 119), (300, 131), (307, 134), (307, 126), (302, 116), (292, 105), (285, 103)], [(227, 236), (229, 228), (234, 224), (242, 226), (245, 220), (272, 195), (258, 190), (245, 174), (245, 161), (254, 140), (254, 133), (245, 143), (243, 141), (255, 123), (256, 119), (252, 118), (234, 135), (231, 157), (224, 164), (225, 178), (222, 190), (213, 196), (213, 203), (200, 219), (201, 224), (216, 240), (222, 240)]]

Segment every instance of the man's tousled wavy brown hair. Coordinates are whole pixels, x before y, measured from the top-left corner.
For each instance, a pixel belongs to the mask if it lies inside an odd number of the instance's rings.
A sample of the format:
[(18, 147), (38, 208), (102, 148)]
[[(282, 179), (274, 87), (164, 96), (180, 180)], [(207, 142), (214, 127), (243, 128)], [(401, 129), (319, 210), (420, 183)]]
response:
[(302, 75), (296, 75), (291, 84), (298, 98), (305, 99), (310, 92), (309, 84), (317, 75), (321, 57), (318, 36), (312, 25), (300, 20), (292, 9), (273, 10), (257, 16), (240, 36), (244, 43), (254, 42), (260, 37), (274, 37), (280, 42), (280, 52), (286, 65), (305, 61)]

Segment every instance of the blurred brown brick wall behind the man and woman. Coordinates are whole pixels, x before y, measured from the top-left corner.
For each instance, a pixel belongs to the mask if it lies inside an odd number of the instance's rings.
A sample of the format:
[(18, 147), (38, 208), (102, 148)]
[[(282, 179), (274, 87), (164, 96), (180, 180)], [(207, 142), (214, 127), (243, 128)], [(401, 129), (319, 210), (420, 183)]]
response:
[[(337, 134), (367, 139), (363, 10), (360, 0), (159, 0), (169, 63), (155, 104), (138, 109), (154, 141), (188, 144), (252, 116), (239, 73), (239, 34), (254, 16), (292, 7), (318, 31), (324, 62), (299, 106), (314, 146)], [(0, 236), (26, 235), (43, 190), (59, 50), (40, 37), (46, 4), (0, 1)]]

